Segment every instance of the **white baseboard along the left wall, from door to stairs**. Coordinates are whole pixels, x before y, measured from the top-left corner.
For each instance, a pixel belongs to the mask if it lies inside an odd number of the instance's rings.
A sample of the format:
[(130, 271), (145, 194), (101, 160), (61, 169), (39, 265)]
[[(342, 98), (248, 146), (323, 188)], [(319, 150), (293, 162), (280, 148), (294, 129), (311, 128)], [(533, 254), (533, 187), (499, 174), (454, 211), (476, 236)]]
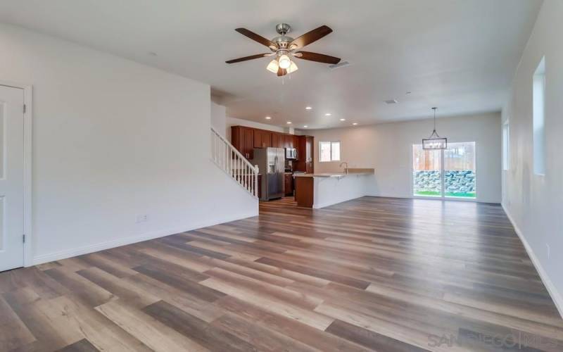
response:
[[(258, 202), (257, 202), (258, 203)], [(135, 236), (123, 237), (119, 239), (112, 239), (110, 241), (103, 241), (97, 244), (89, 244), (87, 246), (81, 246), (74, 249), (65, 249), (64, 251), (57, 251), (53, 253), (42, 254), (41, 256), (35, 256), (33, 258), (32, 265), (38, 265), (42, 263), (49, 263), (54, 260), (61, 260), (65, 258), (71, 258), (75, 256), (81, 256), (82, 254), (93, 253), (97, 251), (103, 251), (104, 249), (115, 248), (119, 246), (125, 246), (126, 244), (134, 244), (141, 241), (147, 241), (148, 239), (156, 239), (158, 237), (170, 236), (171, 234), (178, 234), (180, 232), (186, 232), (191, 230), (201, 229), (202, 227), (213, 226), (217, 224), (222, 224), (224, 222), (231, 222), (235, 220), (241, 220), (245, 218), (251, 218), (258, 215), (258, 207), (253, 213), (245, 215), (227, 216), (221, 219), (215, 219), (208, 222), (201, 222), (198, 224), (176, 228), (176, 229), (166, 229), (158, 230), (153, 232), (147, 232), (144, 234), (138, 234)]]

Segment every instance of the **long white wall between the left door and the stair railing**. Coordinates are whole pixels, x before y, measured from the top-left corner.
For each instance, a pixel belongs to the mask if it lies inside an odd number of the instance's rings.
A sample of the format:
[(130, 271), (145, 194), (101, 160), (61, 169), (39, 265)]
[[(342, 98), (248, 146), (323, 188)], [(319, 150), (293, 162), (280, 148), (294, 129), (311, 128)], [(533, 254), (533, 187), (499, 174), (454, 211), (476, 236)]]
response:
[(0, 43), (0, 80), (34, 90), (35, 263), (258, 213), (210, 161), (207, 84), (8, 25)]

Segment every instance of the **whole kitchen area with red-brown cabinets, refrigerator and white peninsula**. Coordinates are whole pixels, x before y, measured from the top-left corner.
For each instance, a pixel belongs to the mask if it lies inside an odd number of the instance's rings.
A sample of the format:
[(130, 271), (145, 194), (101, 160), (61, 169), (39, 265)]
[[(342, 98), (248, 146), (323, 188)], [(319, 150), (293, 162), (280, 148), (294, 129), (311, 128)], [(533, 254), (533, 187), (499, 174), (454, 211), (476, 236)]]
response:
[(323, 208), (365, 196), (374, 184), (374, 169), (343, 168), (343, 172), (315, 173), (312, 136), (232, 126), (235, 149), (258, 165), (258, 198), (272, 201), (295, 196), (298, 206)]

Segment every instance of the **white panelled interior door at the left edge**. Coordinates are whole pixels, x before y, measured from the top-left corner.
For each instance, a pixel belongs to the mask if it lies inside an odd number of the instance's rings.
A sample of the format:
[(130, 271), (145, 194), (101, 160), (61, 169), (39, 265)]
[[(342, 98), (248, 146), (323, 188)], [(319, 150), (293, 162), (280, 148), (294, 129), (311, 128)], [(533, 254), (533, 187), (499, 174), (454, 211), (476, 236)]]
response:
[(23, 266), (23, 89), (0, 86), (0, 271)]

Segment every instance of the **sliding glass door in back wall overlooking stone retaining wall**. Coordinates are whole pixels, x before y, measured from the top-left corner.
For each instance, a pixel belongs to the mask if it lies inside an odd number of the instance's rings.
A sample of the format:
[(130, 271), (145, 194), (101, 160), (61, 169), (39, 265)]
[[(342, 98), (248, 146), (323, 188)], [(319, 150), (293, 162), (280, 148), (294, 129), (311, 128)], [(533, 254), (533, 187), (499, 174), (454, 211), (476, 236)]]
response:
[(448, 143), (448, 149), (412, 146), (412, 195), (476, 198), (475, 142)]

